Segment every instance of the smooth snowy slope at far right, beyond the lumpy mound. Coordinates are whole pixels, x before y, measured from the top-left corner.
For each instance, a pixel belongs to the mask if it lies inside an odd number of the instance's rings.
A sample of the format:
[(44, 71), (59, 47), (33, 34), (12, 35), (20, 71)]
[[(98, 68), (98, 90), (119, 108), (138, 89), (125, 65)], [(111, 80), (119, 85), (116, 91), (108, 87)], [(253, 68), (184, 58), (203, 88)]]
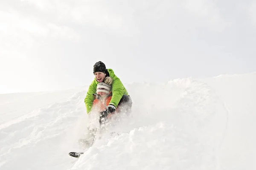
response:
[(229, 113), (229, 128), (220, 150), (223, 169), (256, 169), (256, 72), (204, 81), (215, 88)]

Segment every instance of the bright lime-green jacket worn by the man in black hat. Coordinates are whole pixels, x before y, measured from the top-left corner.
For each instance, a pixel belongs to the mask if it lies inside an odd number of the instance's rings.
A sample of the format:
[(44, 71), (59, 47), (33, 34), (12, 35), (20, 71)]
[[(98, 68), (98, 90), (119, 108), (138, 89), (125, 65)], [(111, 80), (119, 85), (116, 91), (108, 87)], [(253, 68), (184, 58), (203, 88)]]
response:
[[(112, 99), (109, 104), (112, 104), (115, 107), (117, 107), (122, 96), (128, 95), (128, 92), (126, 91), (121, 80), (118, 77), (116, 77), (116, 75), (114, 74), (114, 71), (112, 69), (108, 69), (108, 73), (109, 73), (109, 76), (113, 78)], [(99, 82), (97, 82), (96, 78), (94, 78), (93, 82), (89, 86), (86, 97), (84, 99), (87, 114), (92, 110), (93, 100), (94, 100), (93, 94), (96, 94), (97, 84), (99, 84)]]

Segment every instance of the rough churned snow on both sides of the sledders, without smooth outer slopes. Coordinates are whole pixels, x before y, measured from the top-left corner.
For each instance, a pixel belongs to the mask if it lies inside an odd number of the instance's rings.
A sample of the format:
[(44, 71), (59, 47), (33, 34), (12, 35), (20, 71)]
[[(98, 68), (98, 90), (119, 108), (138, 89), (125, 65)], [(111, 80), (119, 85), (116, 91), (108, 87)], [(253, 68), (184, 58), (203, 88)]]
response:
[(102, 138), (79, 159), (68, 153), (82, 148), (78, 140), (87, 130), (86, 91), (0, 125), (0, 169), (219, 168), (218, 148), (228, 114), (214, 89), (195, 79), (133, 83), (127, 89), (132, 117), (119, 115), (120, 122), (110, 122)]

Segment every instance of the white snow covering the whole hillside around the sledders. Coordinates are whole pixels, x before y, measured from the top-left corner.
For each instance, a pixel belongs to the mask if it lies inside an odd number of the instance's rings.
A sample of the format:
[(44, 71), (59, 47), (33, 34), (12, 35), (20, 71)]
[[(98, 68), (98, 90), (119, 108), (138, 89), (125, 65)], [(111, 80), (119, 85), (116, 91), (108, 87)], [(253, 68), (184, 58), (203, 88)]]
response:
[(125, 87), (132, 115), (109, 122), (79, 159), (68, 153), (84, 149), (87, 87), (0, 94), (0, 169), (256, 168), (256, 73)]

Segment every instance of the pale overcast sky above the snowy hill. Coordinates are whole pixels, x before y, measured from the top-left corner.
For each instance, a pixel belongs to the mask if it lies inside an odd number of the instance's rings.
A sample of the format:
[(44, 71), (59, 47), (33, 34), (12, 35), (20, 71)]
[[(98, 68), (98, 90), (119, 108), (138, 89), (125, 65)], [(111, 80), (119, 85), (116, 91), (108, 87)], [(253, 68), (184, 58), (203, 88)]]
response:
[(253, 0), (0, 0), (0, 93), (256, 71)]

